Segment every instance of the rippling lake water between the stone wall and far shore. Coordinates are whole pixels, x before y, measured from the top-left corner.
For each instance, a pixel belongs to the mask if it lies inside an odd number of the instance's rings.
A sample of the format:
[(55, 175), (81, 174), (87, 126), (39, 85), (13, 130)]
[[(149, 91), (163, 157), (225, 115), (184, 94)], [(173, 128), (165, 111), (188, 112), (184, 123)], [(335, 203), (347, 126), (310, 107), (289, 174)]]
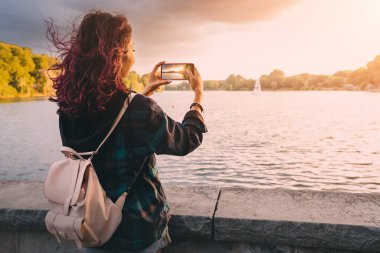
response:
[[(153, 98), (181, 121), (192, 93)], [(205, 93), (209, 132), (186, 157), (158, 156), (168, 184), (380, 192), (380, 93)], [(0, 178), (43, 180), (59, 152), (55, 104), (0, 103)]]

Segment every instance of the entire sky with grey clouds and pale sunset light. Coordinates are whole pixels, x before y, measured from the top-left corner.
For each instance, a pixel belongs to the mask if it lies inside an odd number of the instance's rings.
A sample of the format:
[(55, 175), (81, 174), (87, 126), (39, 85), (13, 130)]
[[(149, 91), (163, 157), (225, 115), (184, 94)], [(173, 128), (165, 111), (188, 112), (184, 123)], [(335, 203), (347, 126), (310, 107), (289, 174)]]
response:
[(380, 54), (379, 0), (0, 0), (0, 40), (49, 53), (44, 20), (91, 9), (126, 15), (143, 74), (193, 62), (204, 80), (354, 70)]

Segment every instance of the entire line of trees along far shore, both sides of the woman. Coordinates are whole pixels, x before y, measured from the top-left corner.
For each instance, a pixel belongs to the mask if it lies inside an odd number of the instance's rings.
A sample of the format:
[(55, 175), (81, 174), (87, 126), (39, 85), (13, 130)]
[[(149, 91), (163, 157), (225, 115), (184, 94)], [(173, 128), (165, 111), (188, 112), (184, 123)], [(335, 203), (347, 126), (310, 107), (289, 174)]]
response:
[[(45, 54), (33, 54), (30, 48), (0, 41), (0, 98), (49, 96), (52, 82), (47, 69), (56, 61)], [(149, 82), (149, 73), (139, 75), (131, 71), (124, 83), (141, 91)], [(253, 90), (255, 79), (231, 74), (225, 80), (205, 80), (205, 90)], [(380, 91), (380, 55), (356, 70), (338, 71), (334, 75), (302, 73), (286, 76), (275, 69), (260, 77), (262, 90), (365, 90)], [(190, 90), (188, 82), (166, 85), (162, 90)]]

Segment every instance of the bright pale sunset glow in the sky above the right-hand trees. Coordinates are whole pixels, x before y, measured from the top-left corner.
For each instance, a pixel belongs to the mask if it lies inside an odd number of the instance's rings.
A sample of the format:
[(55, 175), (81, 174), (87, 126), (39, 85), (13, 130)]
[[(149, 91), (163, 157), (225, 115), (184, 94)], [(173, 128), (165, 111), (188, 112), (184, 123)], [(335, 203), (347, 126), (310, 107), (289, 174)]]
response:
[[(205, 79), (257, 78), (275, 68), (287, 75), (354, 70), (380, 54), (380, 1), (301, 1), (271, 20), (206, 23), (195, 34), (153, 57), (138, 53), (136, 70), (159, 60), (191, 60)], [(143, 51), (145, 43), (136, 43)]]

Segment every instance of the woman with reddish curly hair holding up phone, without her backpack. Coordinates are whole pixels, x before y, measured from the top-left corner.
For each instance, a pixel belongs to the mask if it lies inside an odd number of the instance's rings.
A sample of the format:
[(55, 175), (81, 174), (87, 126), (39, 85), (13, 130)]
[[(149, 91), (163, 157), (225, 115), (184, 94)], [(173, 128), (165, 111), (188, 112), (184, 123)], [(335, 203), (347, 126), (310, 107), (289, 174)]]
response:
[[(48, 38), (59, 50), (52, 70), (64, 146), (93, 151), (111, 128), (130, 92), (122, 82), (135, 62), (132, 29), (126, 17), (93, 11), (85, 15), (68, 41), (52, 22)], [(150, 83), (136, 94), (112, 135), (93, 158), (100, 183), (115, 201), (134, 181), (123, 219), (112, 238), (84, 252), (159, 252), (170, 243), (169, 205), (158, 179), (155, 154), (183, 156), (196, 149), (206, 132), (202, 116), (203, 86), (198, 71), (189, 74), (195, 105), (182, 123), (168, 117), (150, 95), (170, 81), (160, 80), (158, 63)], [(190, 101), (189, 101), (190, 102)], [(190, 103), (189, 103), (190, 104)]]

